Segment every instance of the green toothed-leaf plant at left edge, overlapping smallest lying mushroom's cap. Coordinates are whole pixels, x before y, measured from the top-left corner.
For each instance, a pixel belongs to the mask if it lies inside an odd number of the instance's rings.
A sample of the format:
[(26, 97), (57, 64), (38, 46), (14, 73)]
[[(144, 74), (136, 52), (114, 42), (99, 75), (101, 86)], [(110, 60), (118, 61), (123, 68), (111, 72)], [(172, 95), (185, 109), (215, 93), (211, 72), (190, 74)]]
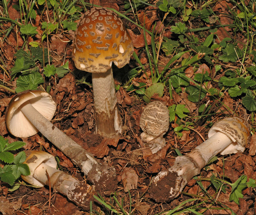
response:
[(14, 185), (14, 182), (20, 177), (20, 175), (30, 175), (30, 170), (27, 164), (23, 164), (26, 160), (26, 154), (24, 151), (19, 152), (16, 156), (10, 151), (20, 149), (25, 145), (24, 142), (16, 141), (8, 143), (7, 139), (0, 136), (0, 160), (3, 162), (4, 167), (0, 167), (0, 180)]

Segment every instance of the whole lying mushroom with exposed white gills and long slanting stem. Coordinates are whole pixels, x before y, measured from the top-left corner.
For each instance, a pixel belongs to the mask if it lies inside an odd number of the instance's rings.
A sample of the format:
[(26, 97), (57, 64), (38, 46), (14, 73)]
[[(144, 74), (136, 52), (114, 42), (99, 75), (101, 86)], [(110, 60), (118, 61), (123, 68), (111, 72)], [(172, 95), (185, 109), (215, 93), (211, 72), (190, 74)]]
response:
[[(54, 115), (55, 106), (55, 102), (47, 92), (40, 90), (20, 92), (9, 103), (6, 112), (6, 126), (16, 137), (30, 137), (40, 131), (86, 175), (92, 168), (96, 168), (97, 175), (89, 179), (95, 185), (99, 184), (100, 179), (103, 180), (102, 184), (107, 184), (107, 180), (115, 180), (114, 169), (99, 164), (92, 154), (50, 123), (49, 120)], [(106, 172), (109, 172), (107, 177)]]

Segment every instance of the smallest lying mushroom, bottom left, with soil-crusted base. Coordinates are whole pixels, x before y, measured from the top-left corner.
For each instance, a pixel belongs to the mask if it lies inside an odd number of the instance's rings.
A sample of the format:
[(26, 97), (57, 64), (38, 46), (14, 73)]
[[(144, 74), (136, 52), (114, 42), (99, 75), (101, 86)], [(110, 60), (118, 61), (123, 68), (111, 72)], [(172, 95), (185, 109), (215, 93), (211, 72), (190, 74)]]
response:
[(26, 151), (26, 156), (24, 164), (28, 164), (30, 175), (21, 175), (24, 181), (38, 187), (51, 186), (79, 207), (89, 209), (89, 203), (93, 201), (95, 193), (94, 186), (82, 183), (69, 174), (57, 170), (54, 156), (47, 152)]

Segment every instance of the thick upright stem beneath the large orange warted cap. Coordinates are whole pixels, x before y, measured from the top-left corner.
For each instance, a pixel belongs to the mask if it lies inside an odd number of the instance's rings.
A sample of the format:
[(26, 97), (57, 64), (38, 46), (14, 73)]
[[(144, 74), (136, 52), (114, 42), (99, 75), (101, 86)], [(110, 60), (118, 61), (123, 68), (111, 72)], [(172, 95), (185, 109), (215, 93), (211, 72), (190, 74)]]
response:
[(122, 126), (112, 67), (105, 73), (92, 73), (92, 84), (96, 133), (105, 137), (117, 136), (122, 133)]

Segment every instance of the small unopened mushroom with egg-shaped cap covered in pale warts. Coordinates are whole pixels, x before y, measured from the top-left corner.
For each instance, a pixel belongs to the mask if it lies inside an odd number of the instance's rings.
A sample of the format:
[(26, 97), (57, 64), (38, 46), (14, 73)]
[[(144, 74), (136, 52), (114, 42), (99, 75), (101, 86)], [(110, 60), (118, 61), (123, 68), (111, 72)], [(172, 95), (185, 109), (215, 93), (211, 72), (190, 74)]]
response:
[(152, 153), (155, 153), (165, 146), (163, 135), (169, 129), (169, 110), (160, 101), (150, 102), (141, 114), (139, 126), (141, 140), (149, 146)]

